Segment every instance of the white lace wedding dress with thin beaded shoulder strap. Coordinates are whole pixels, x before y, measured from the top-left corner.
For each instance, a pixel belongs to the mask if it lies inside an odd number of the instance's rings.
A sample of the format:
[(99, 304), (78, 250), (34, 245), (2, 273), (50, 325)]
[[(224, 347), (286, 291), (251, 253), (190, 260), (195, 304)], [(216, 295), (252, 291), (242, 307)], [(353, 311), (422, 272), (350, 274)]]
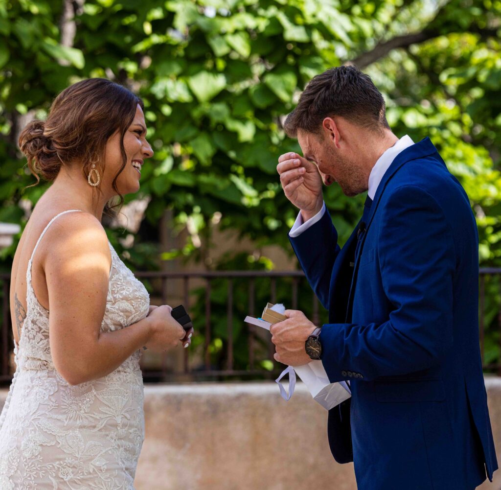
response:
[[(144, 438), (140, 351), (107, 376), (69, 385), (56, 371), (49, 345), (49, 311), (31, 284), (17, 369), (0, 416), (0, 490), (132, 490)], [(149, 295), (109, 243), (112, 266), (102, 332), (148, 314)], [(89, 305), (92, 308), (92, 305)]]

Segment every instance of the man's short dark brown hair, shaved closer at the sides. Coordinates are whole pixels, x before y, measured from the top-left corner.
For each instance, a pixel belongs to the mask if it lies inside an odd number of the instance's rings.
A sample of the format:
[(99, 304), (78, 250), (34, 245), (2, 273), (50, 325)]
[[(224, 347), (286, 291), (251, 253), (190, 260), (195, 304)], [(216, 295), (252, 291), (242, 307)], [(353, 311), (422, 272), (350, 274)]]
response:
[(390, 127), (381, 92), (355, 66), (329, 68), (313, 77), (284, 129), (291, 138), (297, 138), (298, 129), (318, 134), (324, 118), (333, 116), (375, 131)]

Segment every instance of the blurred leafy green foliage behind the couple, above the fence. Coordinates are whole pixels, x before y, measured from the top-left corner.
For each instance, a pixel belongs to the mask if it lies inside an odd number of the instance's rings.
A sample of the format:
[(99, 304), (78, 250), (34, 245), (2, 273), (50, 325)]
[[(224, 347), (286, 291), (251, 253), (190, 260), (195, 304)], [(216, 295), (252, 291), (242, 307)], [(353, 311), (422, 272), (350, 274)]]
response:
[[(0, 0), (0, 222), (23, 228), (48, 185), (24, 190), (35, 179), (17, 148), (23, 126), (69, 84), (106, 77), (143, 98), (155, 150), (126, 196), (147, 204), (133, 239), (104, 223), (124, 261), (273, 269), (250, 250), (208, 261), (211, 224), (291, 253), (296, 210), (276, 164), (299, 146), (283, 118), (314, 75), (353, 63), (382, 91), (397, 136), (432, 139), (469, 195), (480, 265), (501, 266), (500, 19), (499, 0)], [(335, 185), (325, 199), (344, 242), (364, 197)], [(166, 210), (185, 233), (162, 250)], [(0, 251), (2, 271), (20, 234)], [(486, 288), (486, 362), (500, 354), (498, 287)]]

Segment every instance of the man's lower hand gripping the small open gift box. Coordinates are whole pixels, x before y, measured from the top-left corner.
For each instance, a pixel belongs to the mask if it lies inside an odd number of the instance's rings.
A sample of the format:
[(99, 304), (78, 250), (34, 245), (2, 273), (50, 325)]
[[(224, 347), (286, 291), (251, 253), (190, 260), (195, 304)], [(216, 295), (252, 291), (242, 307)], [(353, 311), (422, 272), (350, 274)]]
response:
[(289, 366), (308, 364), (312, 359), (306, 353), (306, 339), (317, 328), (302, 311), (286, 310), (287, 320), (270, 327), (272, 342), (275, 344), (276, 361)]

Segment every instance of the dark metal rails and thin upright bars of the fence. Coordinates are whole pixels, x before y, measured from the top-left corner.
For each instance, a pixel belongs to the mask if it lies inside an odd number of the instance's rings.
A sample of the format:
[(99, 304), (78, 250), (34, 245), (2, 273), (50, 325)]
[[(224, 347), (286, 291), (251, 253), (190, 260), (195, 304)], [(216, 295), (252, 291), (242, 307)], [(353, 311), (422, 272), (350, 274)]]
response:
[[(485, 362), (485, 330), (489, 327), (492, 332), (493, 314), (495, 315), (495, 331), (489, 336), (490, 348), (492, 347), (492, 339), (497, 343), (497, 348), (501, 353), (501, 268), (482, 268), (479, 274), (479, 342), (484, 370), (494, 371), (501, 375), (501, 361), (497, 356), (496, 362)], [(156, 297), (161, 304), (169, 304), (169, 296), (175, 296), (177, 300), (183, 302), (186, 310), (190, 310), (190, 301), (192, 296), (191, 286), (195, 283), (198, 288), (205, 288), (204, 294), (204, 329), (203, 342), (200, 343), (198, 351), (189, 352), (191, 349), (183, 350), (181, 365), (175, 369), (167, 366), (169, 353), (162, 355), (160, 362), (153, 368), (151, 366), (142, 365), (143, 377), (145, 381), (183, 381), (188, 379), (224, 379), (224, 378), (256, 378), (256, 377), (273, 377), (279, 372), (280, 367), (273, 360), (274, 346), (267, 340), (268, 343), (267, 356), (268, 368), (264, 369), (259, 364), (263, 359), (257, 358), (258, 340), (263, 340), (256, 328), (249, 326), (246, 334), (247, 359), (245, 369), (240, 365), (235, 367), (235, 352), (234, 352), (234, 291), (235, 282), (238, 285), (241, 281), (245, 281), (247, 292), (246, 313), (251, 316), (256, 316), (256, 282), (261, 279), (269, 280), (269, 290), (266, 296), (272, 303), (277, 301), (277, 283), (280, 280), (287, 280), (290, 283), (290, 297), (287, 298), (287, 305), (291, 309), (298, 309), (298, 292), (301, 281), (305, 281), (303, 272), (266, 272), (266, 271), (212, 271), (212, 272), (137, 272), (136, 277), (140, 280), (159, 283), (159, 287), (151, 294)], [(171, 281), (180, 281), (181, 287), (175, 288), (174, 293), (168, 293), (166, 285)], [(214, 367), (211, 361), (211, 344), (214, 340), (213, 325), (211, 325), (212, 301), (211, 293), (214, 281), (224, 280), (227, 284), (226, 298), (226, 339), (225, 339), (225, 359), (219, 362), (217, 367)], [(2, 283), (2, 331), (0, 339), (2, 348), (0, 349), (2, 361), (0, 363), (0, 383), (8, 384), (12, 377), (11, 352), (13, 347), (12, 323), (9, 305), (9, 290), (10, 290), (10, 275), (0, 274), (0, 282)], [(261, 283), (260, 283), (261, 284)], [(486, 291), (488, 289), (488, 291)], [(495, 289), (496, 294), (492, 294)], [(262, 291), (261, 291), (262, 292)], [(156, 294), (155, 294), (156, 293)], [(282, 299), (282, 298), (281, 298)], [(489, 314), (486, 316), (486, 299), (489, 301)], [(260, 308), (263, 305), (259, 305)], [(492, 310), (494, 309), (494, 310)], [(311, 320), (318, 325), (320, 323), (320, 303), (311, 292)], [(236, 321), (243, 323), (243, 318), (236, 318)], [(487, 325), (489, 321), (489, 325)], [(261, 349), (262, 351), (262, 349)], [(261, 352), (262, 354), (262, 352)], [(144, 357), (144, 356), (143, 356)], [(270, 364), (270, 362), (272, 364)], [(270, 366), (273, 366), (270, 369)]]

